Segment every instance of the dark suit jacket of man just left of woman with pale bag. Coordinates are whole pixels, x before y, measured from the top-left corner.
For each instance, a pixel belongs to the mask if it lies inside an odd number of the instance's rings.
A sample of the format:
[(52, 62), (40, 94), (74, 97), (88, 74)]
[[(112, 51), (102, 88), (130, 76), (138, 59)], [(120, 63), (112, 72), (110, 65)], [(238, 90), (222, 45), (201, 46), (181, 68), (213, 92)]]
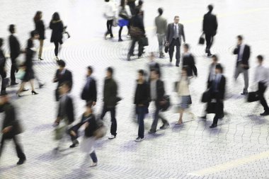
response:
[[(62, 111), (63, 110), (63, 114)], [(73, 100), (70, 96), (66, 96), (66, 99), (64, 103), (62, 101), (59, 101), (59, 108), (58, 108), (58, 115), (57, 117), (64, 118), (67, 117), (67, 120), (69, 124), (74, 122), (74, 106), (73, 106)]]

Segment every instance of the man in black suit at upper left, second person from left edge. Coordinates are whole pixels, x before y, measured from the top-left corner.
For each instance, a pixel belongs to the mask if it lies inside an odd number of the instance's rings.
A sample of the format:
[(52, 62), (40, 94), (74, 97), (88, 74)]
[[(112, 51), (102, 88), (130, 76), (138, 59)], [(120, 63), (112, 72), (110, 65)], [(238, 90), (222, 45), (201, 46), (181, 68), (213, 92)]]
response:
[(8, 28), (11, 35), (8, 37), (10, 56), (11, 56), (11, 85), (17, 85), (15, 73), (18, 71), (16, 59), (21, 54), (21, 46), (18, 39), (14, 35), (16, 33), (15, 25), (11, 24)]

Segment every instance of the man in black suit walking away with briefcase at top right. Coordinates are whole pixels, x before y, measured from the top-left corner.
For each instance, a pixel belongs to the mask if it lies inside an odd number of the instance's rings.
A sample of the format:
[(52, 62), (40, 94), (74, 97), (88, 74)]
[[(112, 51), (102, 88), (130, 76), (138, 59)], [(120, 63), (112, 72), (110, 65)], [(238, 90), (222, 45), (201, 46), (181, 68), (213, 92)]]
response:
[(212, 55), (210, 48), (213, 43), (214, 35), (217, 34), (217, 17), (212, 14), (212, 5), (207, 6), (207, 8), (209, 11), (205, 14), (204, 20), (202, 21), (202, 31), (205, 33), (205, 40), (207, 41), (205, 53), (207, 53), (207, 57), (210, 57)]

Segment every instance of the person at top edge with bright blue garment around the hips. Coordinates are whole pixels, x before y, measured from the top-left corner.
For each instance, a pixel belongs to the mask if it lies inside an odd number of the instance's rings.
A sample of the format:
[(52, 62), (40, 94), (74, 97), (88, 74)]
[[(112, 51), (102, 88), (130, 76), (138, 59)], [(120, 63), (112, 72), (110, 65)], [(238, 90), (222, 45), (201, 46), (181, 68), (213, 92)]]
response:
[(126, 6), (126, 0), (120, 1), (120, 8), (119, 8), (119, 42), (122, 42), (122, 28), (127, 26), (128, 28), (128, 35), (130, 30), (130, 19), (132, 18), (132, 13), (130, 11), (129, 6)]

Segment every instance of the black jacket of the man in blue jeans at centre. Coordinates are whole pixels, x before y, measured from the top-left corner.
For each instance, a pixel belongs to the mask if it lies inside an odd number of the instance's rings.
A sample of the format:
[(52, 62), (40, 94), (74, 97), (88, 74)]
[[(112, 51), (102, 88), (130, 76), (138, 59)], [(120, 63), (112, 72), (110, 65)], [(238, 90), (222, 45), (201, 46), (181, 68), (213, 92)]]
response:
[(150, 92), (149, 84), (144, 81), (144, 83), (137, 83), (137, 88), (135, 90), (135, 105), (149, 106)]

